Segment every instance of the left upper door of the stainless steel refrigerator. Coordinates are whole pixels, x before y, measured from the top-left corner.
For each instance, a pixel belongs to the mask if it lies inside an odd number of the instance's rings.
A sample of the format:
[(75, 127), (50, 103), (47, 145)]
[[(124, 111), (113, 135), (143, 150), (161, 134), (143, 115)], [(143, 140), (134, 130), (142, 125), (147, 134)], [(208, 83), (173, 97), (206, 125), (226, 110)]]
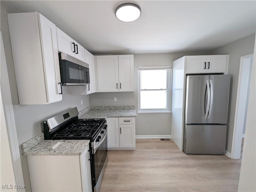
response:
[[(207, 94), (210, 91), (207, 90), (207, 81), (209, 81), (209, 75), (188, 75), (186, 77), (186, 124), (206, 123), (207, 97), (210, 96)], [(209, 99), (208, 102), (210, 104)]]

